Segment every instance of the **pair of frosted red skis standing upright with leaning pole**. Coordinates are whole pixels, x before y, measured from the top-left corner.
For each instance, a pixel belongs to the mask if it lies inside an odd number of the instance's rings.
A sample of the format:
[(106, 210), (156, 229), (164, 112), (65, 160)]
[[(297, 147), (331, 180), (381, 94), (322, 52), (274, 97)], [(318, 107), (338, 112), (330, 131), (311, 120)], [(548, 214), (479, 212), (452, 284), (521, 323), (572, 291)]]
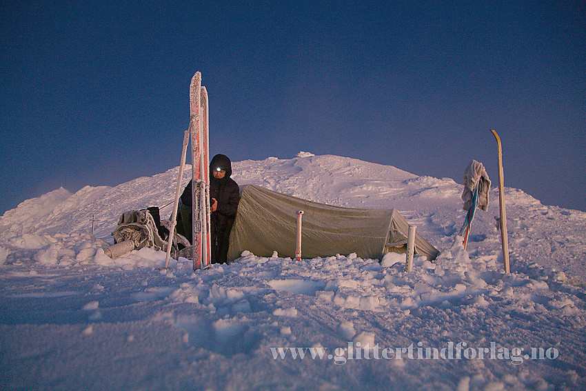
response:
[[(193, 269), (210, 265), (210, 150), (208, 122), (208, 92), (201, 86), (201, 72), (196, 72), (190, 83), (190, 124), (183, 137), (183, 151), (179, 165), (179, 177), (173, 203), (170, 238), (177, 223), (177, 209), (189, 140), (192, 152), (192, 260)], [(170, 250), (165, 259), (168, 267)]]

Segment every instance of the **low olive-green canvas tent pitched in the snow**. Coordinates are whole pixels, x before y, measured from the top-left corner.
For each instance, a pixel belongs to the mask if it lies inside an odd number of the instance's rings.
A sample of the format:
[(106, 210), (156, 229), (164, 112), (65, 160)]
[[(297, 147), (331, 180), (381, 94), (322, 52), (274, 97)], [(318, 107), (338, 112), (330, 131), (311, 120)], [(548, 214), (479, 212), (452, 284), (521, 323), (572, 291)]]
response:
[[(241, 187), (228, 260), (248, 250), (259, 257), (295, 257), (297, 211), (303, 210), (303, 258), (355, 252), (382, 259), (387, 252), (406, 252), (408, 223), (394, 209), (340, 208), (292, 197), (255, 185)], [(416, 233), (415, 252), (435, 259), (439, 253)]]

